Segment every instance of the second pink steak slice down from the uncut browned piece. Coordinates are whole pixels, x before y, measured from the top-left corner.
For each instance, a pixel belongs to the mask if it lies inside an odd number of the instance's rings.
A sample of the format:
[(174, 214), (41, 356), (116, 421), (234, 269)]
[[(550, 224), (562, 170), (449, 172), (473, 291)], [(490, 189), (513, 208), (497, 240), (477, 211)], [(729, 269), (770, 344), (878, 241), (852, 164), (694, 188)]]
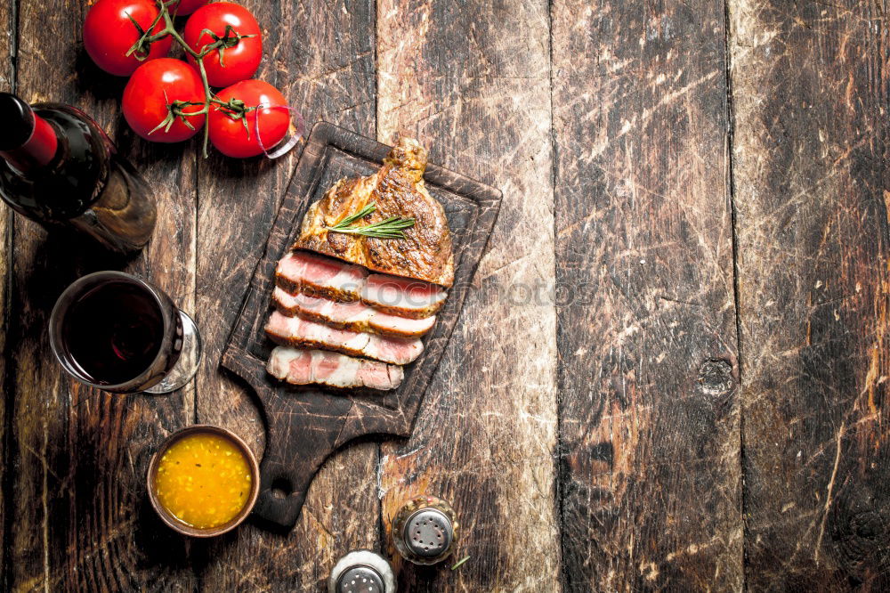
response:
[(387, 337), (420, 337), (436, 322), (435, 316), (408, 319), (377, 311), (360, 301), (339, 303), (300, 292), (292, 295), (280, 287), (275, 287), (272, 302), (281, 313), (291, 317), (298, 316), (337, 329), (369, 331)]

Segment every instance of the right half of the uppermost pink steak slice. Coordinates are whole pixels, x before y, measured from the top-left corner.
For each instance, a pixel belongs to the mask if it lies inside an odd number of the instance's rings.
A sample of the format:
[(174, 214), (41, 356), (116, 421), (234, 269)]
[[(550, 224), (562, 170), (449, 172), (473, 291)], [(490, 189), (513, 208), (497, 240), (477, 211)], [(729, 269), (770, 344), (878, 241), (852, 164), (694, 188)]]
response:
[(445, 304), (448, 293), (423, 280), (371, 274), (361, 288), (361, 300), (384, 313), (410, 319), (425, 319)]

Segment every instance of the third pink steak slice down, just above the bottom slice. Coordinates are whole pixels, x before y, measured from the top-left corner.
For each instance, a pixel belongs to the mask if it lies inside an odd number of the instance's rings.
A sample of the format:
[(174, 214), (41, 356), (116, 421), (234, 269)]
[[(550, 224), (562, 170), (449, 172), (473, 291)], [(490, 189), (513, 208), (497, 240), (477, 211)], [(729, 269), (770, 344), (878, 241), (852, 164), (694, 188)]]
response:
[(287, 317), (279, 311), (272, 312), (265, 330), (279, 345), (333, 350), (392, 364), (408, 364), (424, 351), (424, 343), (419, 339), (404, 340), (335, 329), (315, 321)]

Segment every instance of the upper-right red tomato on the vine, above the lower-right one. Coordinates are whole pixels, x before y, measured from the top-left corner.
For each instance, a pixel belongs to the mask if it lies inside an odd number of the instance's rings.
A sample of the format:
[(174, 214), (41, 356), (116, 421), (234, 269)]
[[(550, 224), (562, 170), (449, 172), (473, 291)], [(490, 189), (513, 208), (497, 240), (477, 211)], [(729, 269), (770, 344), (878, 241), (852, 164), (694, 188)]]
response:
[[(226, 35), (226, 28), (231, 27)], [(213, 31), (213, 35), (204, 32)], [(231, 2), (214, 2), (199, 8), (185, 23), (185, 42), (197, 53), (218, 39), (226, 42), (204, 56), (204, 69), (211, 86), (234, 85), (239, 80), (254, 76), (263, 58), (263, 38), (260, 26), (247, 8)], [(237, 37), (252, 35), (254, 37)], [(223, 52), (222, 61), (220, 51)], [(197, 61), (189, 56), (189, 62), (198, 68)]]

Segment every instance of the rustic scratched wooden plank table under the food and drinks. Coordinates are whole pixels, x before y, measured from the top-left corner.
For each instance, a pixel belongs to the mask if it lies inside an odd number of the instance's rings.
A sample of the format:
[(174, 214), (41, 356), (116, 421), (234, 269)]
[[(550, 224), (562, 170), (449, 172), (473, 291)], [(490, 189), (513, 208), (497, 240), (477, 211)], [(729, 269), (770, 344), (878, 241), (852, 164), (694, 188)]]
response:
[[(263, 451), (218, 363), (296, 153), (140, 141), (81, 49), (87, 3), (6, 0), (0, 86), (92, 113), (159, 199), (128, 263), (0, 221), (6, 588), (320, 590), (417, 492), (455, 504), (470, 558), (398, 566), (402, 590), (890, 587), (886, 0), (244, 4), (308, 122), (416, 135), (504, 192), (414, 436), (330, 459), (287, 536), (159, 524), (165, 435)], [(195, 314), (182, 393), (62, 376), (48, 312), (109, 265)]]

